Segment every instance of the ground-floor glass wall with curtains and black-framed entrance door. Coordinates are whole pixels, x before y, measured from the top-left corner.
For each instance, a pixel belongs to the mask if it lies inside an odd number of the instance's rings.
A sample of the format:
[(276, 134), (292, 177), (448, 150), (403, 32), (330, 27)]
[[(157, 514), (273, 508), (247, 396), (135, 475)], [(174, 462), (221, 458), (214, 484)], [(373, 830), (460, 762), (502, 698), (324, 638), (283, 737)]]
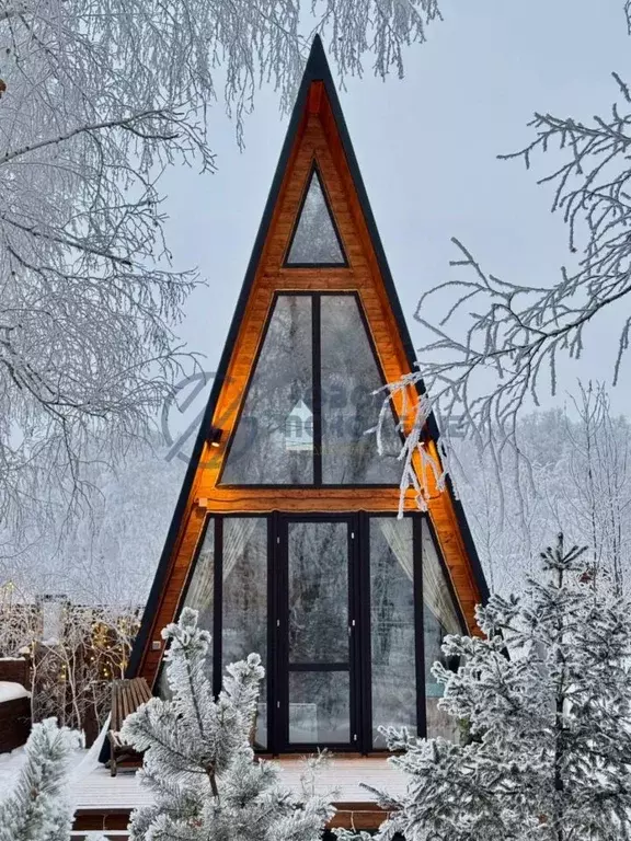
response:
[[(199, 611), (202, 627), (221, 629), (220, 646), (208, 653), (216, 689), (228, 664), (261, 655), (261, 750), (385, 749), (381, 726), (423, 735), (423, 704), (428, 738), (460, 738), (455, 719), (438, 708), (443, 687), (432, 666), (447, 665), (443, 640), (462, 625), (426, 517), (210, 518), (184, 603)], [(160, 692), (169, 694), (164, 673)]]

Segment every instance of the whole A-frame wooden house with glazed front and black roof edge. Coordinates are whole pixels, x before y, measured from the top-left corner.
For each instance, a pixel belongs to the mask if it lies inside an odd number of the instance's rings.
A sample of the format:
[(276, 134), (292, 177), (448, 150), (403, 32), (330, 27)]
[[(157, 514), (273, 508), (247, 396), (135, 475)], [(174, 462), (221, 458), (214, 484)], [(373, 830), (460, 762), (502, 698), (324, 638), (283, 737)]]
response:
[(316, 38), (130, 677), (160, 690), (160, 630), (190, 604), (217, 691), (233, 659), (266, 664), (261, 751), (369, 753), (379, 725), (450, 735), (429, 666), (446, 633), (474, 631), (484, 579), (450, 487), (397, 518), (394, 414), (382, 456), (365, 434), (375, 389), (413, 365)]

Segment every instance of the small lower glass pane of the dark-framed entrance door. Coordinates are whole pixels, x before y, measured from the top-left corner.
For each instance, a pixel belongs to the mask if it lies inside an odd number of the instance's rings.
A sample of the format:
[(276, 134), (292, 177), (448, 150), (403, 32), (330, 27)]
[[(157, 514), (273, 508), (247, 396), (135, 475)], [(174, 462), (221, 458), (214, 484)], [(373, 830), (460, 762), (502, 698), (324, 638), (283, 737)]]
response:
[(348, 744), (349, 696), (347, 671), (289, 672), (289, 741)]

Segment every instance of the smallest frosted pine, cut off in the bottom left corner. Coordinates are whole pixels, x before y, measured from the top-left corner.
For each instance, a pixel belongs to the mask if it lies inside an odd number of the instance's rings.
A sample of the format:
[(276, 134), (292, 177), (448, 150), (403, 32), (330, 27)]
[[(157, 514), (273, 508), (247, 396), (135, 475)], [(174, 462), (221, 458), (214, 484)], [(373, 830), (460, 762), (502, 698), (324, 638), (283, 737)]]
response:
[(70, 841), (68, 764), (79, 735), (55, 718), (35, 724), (18, 783), (0, 804), (0, 841)]

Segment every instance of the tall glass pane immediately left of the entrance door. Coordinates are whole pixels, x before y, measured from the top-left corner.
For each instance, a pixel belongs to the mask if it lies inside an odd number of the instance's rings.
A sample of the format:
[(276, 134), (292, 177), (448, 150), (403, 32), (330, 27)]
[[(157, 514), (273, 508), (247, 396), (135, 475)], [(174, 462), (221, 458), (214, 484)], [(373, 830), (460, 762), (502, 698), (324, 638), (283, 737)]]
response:
[[(223, 520), (222, 667), (249, 654), (267, 669), (267, 521), (263, 517)], [(261, 682), (255, 746), (267, 745), (266, 679)]]

